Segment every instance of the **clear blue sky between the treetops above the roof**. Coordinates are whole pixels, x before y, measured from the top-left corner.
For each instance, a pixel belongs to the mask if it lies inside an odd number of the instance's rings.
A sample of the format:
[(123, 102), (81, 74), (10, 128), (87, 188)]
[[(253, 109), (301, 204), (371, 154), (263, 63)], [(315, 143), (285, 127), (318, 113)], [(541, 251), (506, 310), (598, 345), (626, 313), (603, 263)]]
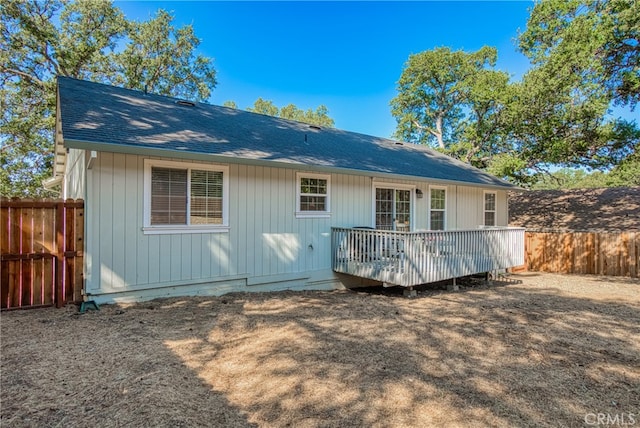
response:
[(519, 79), (527, 59), (515, 38), (531, 1), (217, 2), (116, 1), (129, 19), (159, 8), (192, 24), (214, 59), (209, 102), (239, 108), (262, 97), (282, 107), (324, 104), (337, 128), (381, 137), (395, 130), (389, 102), (412, 53), (439, 46), (498, 49), (497, 68)]

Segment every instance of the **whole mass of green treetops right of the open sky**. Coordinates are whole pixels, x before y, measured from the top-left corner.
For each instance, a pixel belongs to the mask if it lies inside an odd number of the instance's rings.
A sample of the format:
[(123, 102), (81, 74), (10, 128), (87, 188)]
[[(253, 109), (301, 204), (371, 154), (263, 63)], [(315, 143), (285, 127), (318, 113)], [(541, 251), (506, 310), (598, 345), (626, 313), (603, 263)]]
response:
[(609, 185), (633, 183), (640, 130), (636, 121), (611, 119), (609, 109), (638, 102), (639, 7), (537, 2), (519, 40), (533, 64), (520, 82), (492, 69), (492, 48), (411, 55), (391, 102), (395, 136), (521, 185), (557, 167), (611, 170), (603, 173)]

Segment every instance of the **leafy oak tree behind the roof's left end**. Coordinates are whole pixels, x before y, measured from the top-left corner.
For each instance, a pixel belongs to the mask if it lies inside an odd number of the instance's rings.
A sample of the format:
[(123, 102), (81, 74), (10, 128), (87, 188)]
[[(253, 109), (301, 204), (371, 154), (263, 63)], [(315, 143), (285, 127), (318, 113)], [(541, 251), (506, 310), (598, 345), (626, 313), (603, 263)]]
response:
[(194, 100), (216, 85), (191, 26), (160, 10), (132, 22), (107, 1), (6, 0), (0, 5), (0, 194), (43, 196), (51, 176), (55, 77), (69, 76)]

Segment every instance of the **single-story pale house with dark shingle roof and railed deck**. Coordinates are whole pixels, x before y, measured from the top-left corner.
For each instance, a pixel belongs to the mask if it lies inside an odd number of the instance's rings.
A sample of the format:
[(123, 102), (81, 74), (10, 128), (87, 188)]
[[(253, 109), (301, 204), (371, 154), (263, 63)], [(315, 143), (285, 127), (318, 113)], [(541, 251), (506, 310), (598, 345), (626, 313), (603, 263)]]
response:
[(85, 200), (96, 302), (522, 264), (513, 186), (426, 147), (66, 77), (57, 91), (49, 182)]

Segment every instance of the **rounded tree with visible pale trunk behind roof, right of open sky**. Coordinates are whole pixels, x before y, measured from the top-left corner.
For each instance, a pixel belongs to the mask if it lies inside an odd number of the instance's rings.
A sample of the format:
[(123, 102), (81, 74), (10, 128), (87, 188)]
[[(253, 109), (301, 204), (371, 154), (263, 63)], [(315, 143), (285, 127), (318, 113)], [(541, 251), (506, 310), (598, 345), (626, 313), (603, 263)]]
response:
[(512, 89), (509, 76), (492, 68), (496, 59), (496, 49), (486, 46), (471, 53), (437, 48), (411, 55), (391, 101), (394, 136), (480, 168), (512, 165), (512, 155), (505, 154)]

